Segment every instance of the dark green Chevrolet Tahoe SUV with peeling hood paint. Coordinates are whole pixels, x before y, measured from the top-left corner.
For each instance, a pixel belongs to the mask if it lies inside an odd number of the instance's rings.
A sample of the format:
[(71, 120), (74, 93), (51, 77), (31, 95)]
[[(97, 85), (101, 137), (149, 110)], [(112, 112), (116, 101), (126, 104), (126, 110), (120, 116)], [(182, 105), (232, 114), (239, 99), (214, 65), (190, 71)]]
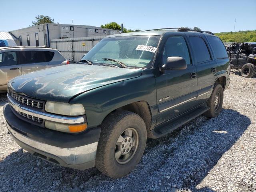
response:
[(210, 32), (117, 34), (77, 64), (10, 80), (4, 116), (34, 156), (119, 178), (140, 162), (147, 137), (220, 114), (229, 82), (228, 54)]

